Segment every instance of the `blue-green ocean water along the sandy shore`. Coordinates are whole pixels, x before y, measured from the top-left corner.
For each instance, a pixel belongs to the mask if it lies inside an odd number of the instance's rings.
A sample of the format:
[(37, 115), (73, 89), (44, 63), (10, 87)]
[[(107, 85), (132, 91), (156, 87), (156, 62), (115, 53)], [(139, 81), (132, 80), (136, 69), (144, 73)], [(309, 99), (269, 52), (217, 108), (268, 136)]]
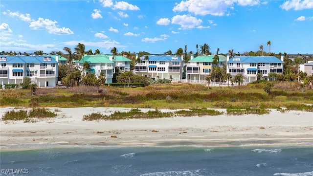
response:
[(313, 147), (45, 146), (2, 151), (0, 167), (1, 176), (313, 176)]

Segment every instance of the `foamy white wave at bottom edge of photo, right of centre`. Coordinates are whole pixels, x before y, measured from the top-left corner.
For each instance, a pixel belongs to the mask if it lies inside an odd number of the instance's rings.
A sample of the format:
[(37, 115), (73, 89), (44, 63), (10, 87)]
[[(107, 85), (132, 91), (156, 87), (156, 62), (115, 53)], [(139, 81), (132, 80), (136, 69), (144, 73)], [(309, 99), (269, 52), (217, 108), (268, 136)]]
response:
[(208, 169), (197, 169), (194, 171), (167, 171), (142, 174), (140, 176), (210, 176), (212, 172)]

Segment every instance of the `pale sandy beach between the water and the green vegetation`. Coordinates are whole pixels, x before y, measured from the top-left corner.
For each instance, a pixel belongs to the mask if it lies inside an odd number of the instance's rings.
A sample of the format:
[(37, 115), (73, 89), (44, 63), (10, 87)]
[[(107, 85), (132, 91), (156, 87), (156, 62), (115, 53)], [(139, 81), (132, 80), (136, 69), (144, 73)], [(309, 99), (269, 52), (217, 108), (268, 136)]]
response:
[[(1, 117), (13, 107), (1, 107)], [(0, 121), (1, 150), (19, 144), (101, 146), (313, 145), (313, 113), (271, 110), (267, 115), (219, 115), (83, 121), (85, 114), (109, 115), (129, 108), (49, 108), (55, 118)], [(19, 110), (19, 109), (16, 109)], [(154, 109), (140, 109), (142, 111)], [(224, 111), (224, 109), (218, 109)], [(160, 109), (160, 111), (175, 111)]]

